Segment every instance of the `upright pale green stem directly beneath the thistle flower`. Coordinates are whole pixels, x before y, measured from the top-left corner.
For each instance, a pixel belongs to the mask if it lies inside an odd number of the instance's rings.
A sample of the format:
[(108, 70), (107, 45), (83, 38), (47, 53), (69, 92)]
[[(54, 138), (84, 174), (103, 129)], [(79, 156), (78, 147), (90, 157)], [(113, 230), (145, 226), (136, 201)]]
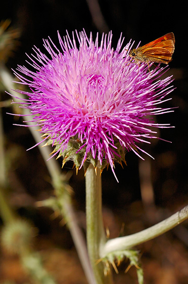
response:
[(96, 277), (97, 284), (112, 284), (110, 269), (107, 270), (106, 264), (100, 260), (100, 251), (106, 243), (106, 235), (103, 226), (102, 216), (102, 186), (100, 171), (90, 165), (85, 175), (86, 181), (86, 227), (87, 227), (87, 249)]

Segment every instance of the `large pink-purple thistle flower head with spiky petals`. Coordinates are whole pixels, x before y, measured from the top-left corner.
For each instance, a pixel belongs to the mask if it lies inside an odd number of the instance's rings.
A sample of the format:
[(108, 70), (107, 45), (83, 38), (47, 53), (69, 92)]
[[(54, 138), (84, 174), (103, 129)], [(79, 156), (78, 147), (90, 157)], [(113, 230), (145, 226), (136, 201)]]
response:
[(28, 56), (34, 71), (18, 66), (15, 72), (30, 92), (17, 91), (28, 96), (22, 107), (30, 109), (63, 165), (73, 160), (85, 172), (90, 163), (101, 172), (110, 165), (114, 172), (114, 162), (125, 162), (126, 152), (141, 157), (139, 144), (157, 138), (153, 127), (169, 127), (153, 117), (171, 111), (159, 104), (173, 90), (172, 78), (160, 79), (165, 68), (148, 72), (148, 65), (130, 62), (131, 44), (122, 49), (121, 36), (114, 50), (112, 32), (101, 42), (84, 30), (76, 36), (62, 39), (58, 33), (61, 50), (50, 38), (43, 40), (49, 56), (34, 47), (35, 55)]

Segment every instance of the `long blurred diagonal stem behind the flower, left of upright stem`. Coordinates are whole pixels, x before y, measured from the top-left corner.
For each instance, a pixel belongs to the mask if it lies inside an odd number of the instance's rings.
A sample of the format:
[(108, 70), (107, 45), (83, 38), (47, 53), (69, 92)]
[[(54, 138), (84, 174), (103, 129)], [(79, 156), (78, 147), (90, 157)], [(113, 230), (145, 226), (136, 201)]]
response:
[[(20, 93), (17, 93), (14, 91), (15, 87), (13, 84), (14, 78), (11, 76), (9, 71), (6, 69), (5, 66), (0, 65), (0, 77), (2, 78), (2, 81), (7, 88), (7, 90), (13, 94), (16, 97), (19, 97), (20, 99), (23, 99), (23, 95)], [(15, 101), (19, 102), (18, 99), (15, 99)], [(30, 114), (28, 109), (22, 109), (24, 115)], [(25, 117), (25, 120), (27, 120), (27, 117)], [(28, 125), (33, 125), (32, 123), (28, 123)], [(39, 143), (41, 141), (41, 135), (38, 131), (37, 127), (29, 127), (29, 130), (31, 131), (36, 143)], [(51, 158), (48, 162), (50, 156), (50, 149), (48, 147), (39, 147), (40, 153), (44, 159), (44, 162), (46, 164), (46, 167), (49, 170), (49, 173), (52, 178), (52, 184), (55, 187), (55, 191), (59, 191), (59, 182), (61, 182), (61, 186), (64, 187), (63, 181), (61, 179), (62, 172), (58, 166), (58, 163), (55, 161), (55, 158)], [(57, 186), (57, 187), (56, 187)], [(65, 193), (65, 191), (64, 191)], [(85, 276), (87, 278), (87, 281), (89, 284), (96, 284), (95, 277), (93, 276), (92, 269), (90, 267), (90, 263), (88, 261), (88, 255), (86, 251), (86, 245), (84, 236), (78, 226), (77, 218), (74, 213), (74, 210), (72, 208), (71, 200), (70, 198), (65, 199), (65, 201), (62, 201), (62, 206), (66, 207), (66, 210), (63, 210), (64, 213), (66, 213), (66, 220), (70, 220), (69, 228), (70, 232), (73, 238), (73, 241), (75, 242), (75, 247), (78, 252), (78, 256), (80, 258), (80, 262), (82, 264), (83, 270), (85, 272)], [(62, 213), (62, 212), (61, 212)]]

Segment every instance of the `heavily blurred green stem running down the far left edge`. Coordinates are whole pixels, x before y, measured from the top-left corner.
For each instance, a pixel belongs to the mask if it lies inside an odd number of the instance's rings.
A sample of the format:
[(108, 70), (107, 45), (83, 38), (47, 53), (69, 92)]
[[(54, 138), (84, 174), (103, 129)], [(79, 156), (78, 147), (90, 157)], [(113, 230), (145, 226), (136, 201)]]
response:
[[(3, 80), (4, 76), (2, 78), (2, 72), (4, 70), (3, 65), (0, 65), (0, 77), (3, 81), (3, 83), (6, 85), (6, 82)], [(4, 72), (3, 72), (4, 74)], [(11, 78), (11, 77), (10, 77)], [(12, 85), (12, 81), (11, 81)], [(6, 190), (8, 187), (8, 178), (7, 178), (7, 170), (5, 166), (5, 156), (4, 156), (4, 133), (3, 133), (3, 122), (2, 122), (2, 113), (0, 109), (0, 216), (2, 217), (2, 220), (5, 223), (5, 226), (3, 228), (4, 231), (9, 230), (9, 232), (12, 231), (12, 239), (15, 240), (14, 234), (19, 236), (20, 230), (18, 228), (18, 231), (16, 232), (15, 229), (12, 228), (15, 227), (16, 223), (19, 223), (19, 217), (15, 213), (15, 211), (11, 208), (9, 205), (9, 202), (7, 200)], [(11, 228), (11, 229), (10, 229)], [(18, 234), (17, 234), (18, 233)], [(22, 242), (24, 238), (22, 236), (20, 237)], [(2, 245), (6, 245), (6, 241), (2, 242)], [(18, 250), (18, 254), (20, 257), (20, 260), (22, 262), (23, 268), (27, 271), (27, 273), (30, 274), (32, 279), (39, 280), (39, 282), (42, 284), (56, 284), (54, 279), (49, 275), (48, 272), (43, 268), (42, 262), (40, 259), (40, 256), (36, 253), (32, 252), (32, 249), (30, 247), (30, 244), (25, 244), (23, 241), (22, 249)]]

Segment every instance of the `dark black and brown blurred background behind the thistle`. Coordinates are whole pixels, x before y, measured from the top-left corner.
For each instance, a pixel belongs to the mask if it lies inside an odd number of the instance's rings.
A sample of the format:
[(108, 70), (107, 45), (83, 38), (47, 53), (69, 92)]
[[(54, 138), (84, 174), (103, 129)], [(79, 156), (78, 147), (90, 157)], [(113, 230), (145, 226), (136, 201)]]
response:
[[(168, 32), (175, 35), (175, 52), (167, 75), (174, 75), (175, 90), (171, 101), (164, 107), (175, 108), (173, 113), (158, 116), (159, 123), (170, 123), (175, 128), (161, 129), (160, 137), (172, 141), (154, 140), (150, 147), (143, 148), (155, 160), (140, 161), (134, 153), (126, 155), (124, 169), (116, 165), (119, 183), (109, 169), (102, 174), (104, 222), (110, 230), (110, 237), (126, 235), (147, 228), (161, 221), (187, 205), (187, 118), (188, 118), (188, 73), (187, 33), (188, 2), (172, 1), (122, 1), (122, 0), (20, 0), (2, 1), (0, 20), (11, 20), (10, 27), (20, 30), (20, 37), (14, 53), (6, 61), (6, 67), (13, 74), (17, 64), (24, 65), (26, 55), (32, 53), (33, 45), (44, 51), (42, 38), (48, 36), (59, 46), (57, 30), (61, 36), (68, 30), (83, 28), (93, 38), (97, 32), (112, 30), (114, 48), (120, 33), (141, 45)], [(1, 42), (0, 42), (1, 44)], [(166, 76), (166, 75), (165, 75)], [(1, 100), (8, 95), (2, 90)], [(176, 108), (178, 107), (178, 108)], [(26, 150), (35, 141), (26, 127), (14, 126), (15, 117), (9, 107), (2, 108), (5, 135), (5, 156), (9, 165), (8, 202), (18, 215), (31, 221), (38, 233), (34, 249), (44, 259), (44, 265), (59, 284), (87, 283), (74, 248), (68, 228), (61, 224), (61, 217), (52, 218), (53, 211), (36, 207), (35, 202), (53, 195), (53, 187), (39, 150)], [(16, 123), (22, 124), (21, 119)], [(61, 161), (59, 161), (61, 163)], [(83, 170), (72, 170), (72, 164), (63, 171), (71, 171), (70, 185), (80, 226), (85, 229), (85, 188)], [(3, 226), (3, 221), (1, 222)], [(141, 252), (146, 284), (188, 283), (188, 221), (173, 230), (137, 247)], [(137, 283), (135, 268), (124, 273), (128, 261), (114, 273), (115, 283)], [(11, 269), (10, 269), (11, 267)], [(1, 248), (0, 282), (34, 283), (20, 265), (19, 258)]]

